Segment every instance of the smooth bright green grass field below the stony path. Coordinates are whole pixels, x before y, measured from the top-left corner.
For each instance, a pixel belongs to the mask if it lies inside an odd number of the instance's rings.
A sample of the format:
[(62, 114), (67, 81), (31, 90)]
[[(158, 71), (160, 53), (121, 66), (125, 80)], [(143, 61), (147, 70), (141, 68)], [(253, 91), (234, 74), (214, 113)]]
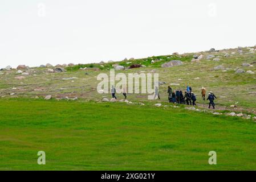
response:
[(0, 170), (254, 170), (255, 133), (255, 122), (182, 108), (1, 100)]

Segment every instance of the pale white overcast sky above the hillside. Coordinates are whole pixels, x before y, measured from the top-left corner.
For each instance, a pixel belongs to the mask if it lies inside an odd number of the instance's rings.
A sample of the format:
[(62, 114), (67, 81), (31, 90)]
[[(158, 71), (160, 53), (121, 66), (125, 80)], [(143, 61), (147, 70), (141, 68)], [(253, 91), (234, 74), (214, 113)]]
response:
[(255, 0), (1, 0), (0, 68), (256, 44)]

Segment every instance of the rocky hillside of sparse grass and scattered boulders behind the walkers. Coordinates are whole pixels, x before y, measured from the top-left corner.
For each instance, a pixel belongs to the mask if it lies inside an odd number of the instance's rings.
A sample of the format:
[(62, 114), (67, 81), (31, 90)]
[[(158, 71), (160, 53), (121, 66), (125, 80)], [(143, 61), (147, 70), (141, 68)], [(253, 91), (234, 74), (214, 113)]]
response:
[[(0, 71), (0, 97), (46, 98), (52, 100), (102, 101), (109, 94), (99, 94), (96, 86), (99, 73), (109, 74), (109, 69), (128, 73), (159, 73), (161, 100), (149, 101), (146, 94), (128, 94), (129, 102), (167, 104), (167, 86), (193, 88), (197, 103), (206, 108), (208, 102), (201, 99), (201, 87), (216, 94), (217, 110), (236, 113), (255, 113), (256, 108), (256, 47), (185, 53), (179, 55), (152, 56), (143, 59), (124, 59), (92, 64), (51, 64), (29, 68), (19, 65)], [(105, 100), (107, 100), (105, 99)], [(117, 100), (123, 96), (117, 94)]]

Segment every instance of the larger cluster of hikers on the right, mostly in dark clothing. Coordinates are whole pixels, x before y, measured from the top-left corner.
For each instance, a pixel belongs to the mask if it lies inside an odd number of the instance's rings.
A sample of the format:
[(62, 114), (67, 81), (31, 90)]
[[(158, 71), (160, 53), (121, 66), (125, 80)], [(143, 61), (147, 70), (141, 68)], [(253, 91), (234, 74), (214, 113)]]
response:
[[(181, 89), (172, 90), (172, 88), (168, 86), (167, 93), (168, 93), (169, 102), (196, 106), (197, 98), (196, 98), (196, 94), (192, 92), (191, 86), (186, 86), (186, 90), (184, 91), (184, 94)], [(202, 87), (201, 89), (201, 94), (202, 94), (202, 99), (205, 101), (206, 89), (204, 87)], [(213, 94), (213, 92), (209, 92), (209, 96), (207, 98), (207, 100), (210, 101), (209, 108), (210, 106), (212, 106), (213, 109), (215, 109), (214, 99), (216, 98), (217, 97)]]

